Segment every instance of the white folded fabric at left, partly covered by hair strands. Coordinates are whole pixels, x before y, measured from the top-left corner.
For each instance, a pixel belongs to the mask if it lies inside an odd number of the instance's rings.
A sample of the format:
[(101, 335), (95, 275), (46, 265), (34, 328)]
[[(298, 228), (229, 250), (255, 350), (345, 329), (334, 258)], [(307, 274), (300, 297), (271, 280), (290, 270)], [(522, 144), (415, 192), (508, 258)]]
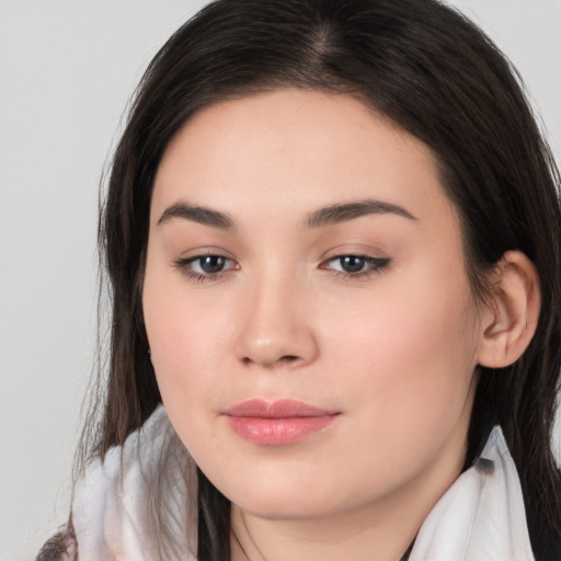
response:
[[(195, 561), (196, 497), (195, 463), (160, 405), (77, 484), (72, 522), (79, 561), (154, 561), (170, 551)], [(164, 516), (160, 525), (156, 513)]]

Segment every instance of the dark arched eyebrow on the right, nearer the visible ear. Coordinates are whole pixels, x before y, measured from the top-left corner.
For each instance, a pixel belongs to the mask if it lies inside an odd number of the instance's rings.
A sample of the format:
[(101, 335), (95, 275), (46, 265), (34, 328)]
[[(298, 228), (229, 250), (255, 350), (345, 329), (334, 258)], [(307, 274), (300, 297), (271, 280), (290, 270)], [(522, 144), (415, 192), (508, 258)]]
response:
[(367, 198), (364, 201), (353, 201), (350, 203), (337, 203), (335, 205), (325, 206), (314, 210), (308, 216), (307, 225), (309, 228), (319, 228), (333, 224), (346, 222), (367, 215), (385, 215), (392, 214), (416, 220), (411, 213), (402, 206), (385, 201)]

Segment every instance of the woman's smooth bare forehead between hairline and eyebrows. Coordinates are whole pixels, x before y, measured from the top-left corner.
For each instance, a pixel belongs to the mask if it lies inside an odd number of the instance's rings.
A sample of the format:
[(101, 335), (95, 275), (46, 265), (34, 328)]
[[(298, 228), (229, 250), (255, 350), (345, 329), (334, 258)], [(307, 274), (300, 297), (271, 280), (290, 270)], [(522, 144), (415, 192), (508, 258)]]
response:
[(351, 95), (287, 89), (218, 103), (190, 119), (162, 158), (152, 209), (187, 199), (288, 219), (373, 197), (421, 214), (450, 211), (426, 145)]

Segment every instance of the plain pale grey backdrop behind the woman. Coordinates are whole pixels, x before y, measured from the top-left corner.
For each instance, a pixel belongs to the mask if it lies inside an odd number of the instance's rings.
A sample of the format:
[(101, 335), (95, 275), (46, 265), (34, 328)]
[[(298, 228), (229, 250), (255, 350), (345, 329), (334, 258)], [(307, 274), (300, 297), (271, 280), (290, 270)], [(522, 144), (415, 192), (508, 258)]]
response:
[[(136, 82), (202, 0), (0, 0), (0, 561), (64, 523), (95, 351), (98, 185)], [(561, 0), (456, 0), (561, 153)], [(559, 431), (558, 431), (559, 432)]]

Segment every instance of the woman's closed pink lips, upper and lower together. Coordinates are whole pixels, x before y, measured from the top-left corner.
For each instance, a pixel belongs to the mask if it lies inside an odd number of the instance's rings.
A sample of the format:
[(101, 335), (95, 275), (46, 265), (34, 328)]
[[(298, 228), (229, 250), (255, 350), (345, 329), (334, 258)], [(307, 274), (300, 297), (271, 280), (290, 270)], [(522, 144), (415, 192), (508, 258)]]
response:
[(245, 440), (261, 446), (284, 446), (325, 428), (339, 412), (290, 399), (273, 402), (251, 399), (222, 414), (230, 428)]

